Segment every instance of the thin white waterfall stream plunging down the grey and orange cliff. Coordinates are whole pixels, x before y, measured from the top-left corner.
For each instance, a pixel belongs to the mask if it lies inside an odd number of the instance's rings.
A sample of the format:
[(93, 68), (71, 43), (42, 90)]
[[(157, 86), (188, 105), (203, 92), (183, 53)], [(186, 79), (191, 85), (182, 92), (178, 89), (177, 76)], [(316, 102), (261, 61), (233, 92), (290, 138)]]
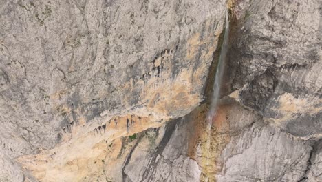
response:
[[(225, 65), (225, 59), (227, 54), (227, 47), (228, 47), (228, 31), (229, 31), (229, 18), (228, 18), (228, 8), (226, 9), (226, 21), (225, 21), (225, 30), (224, 30), (224, 40), (222, 42), (222, 48), (220, 50), (219, 54), (219, 60), (215, 72), (215, 81), (213, 83), (213, 95), (211, 96), (211, 105), (209, 108), (207, 120), (207, 134), (208, 139), (206, 143), (206, 149), (208, 150), (208, 157), (206, 159), (206, 165), (209, 165), (209, 158), (210, 158), (210, 148), (211, 148), (211, 126), (213, 125), (213, 117), (215, 117), (216, 110), (217, 110), (217, 102), (219, 99), (219, 91), (220, 91), (220, 85), (222, 83), (222, 77), (224, 76), (224, 65)], [(206, 181), (208, 181), (208, 176)]]

